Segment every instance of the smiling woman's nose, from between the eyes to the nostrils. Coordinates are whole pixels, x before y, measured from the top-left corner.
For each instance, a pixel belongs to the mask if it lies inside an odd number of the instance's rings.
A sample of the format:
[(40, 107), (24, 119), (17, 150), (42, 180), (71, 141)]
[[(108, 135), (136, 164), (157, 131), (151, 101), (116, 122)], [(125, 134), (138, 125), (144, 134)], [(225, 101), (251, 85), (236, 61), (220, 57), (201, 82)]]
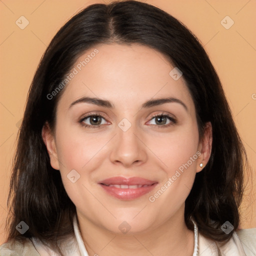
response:
[(146, 145), (143, 136), (132, 124), (126, 131), (116, 126), (117, 134), (111, 144), (110, 160), (124, 167), (140, 165), (147, 159)]

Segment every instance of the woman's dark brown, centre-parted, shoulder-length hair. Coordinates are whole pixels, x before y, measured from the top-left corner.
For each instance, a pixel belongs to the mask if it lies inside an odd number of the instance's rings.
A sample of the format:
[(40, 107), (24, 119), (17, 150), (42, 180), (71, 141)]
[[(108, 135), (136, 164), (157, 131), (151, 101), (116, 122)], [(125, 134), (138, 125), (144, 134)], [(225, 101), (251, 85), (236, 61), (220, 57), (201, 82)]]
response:
[[(196, 174), (185, 200), (185, 222), (193, 230), (192, 217), (205, 237), (227, 241), (239, 224), (247, 158), (220, 80), (202, 45), (185, 25), (157, 7), (130, 0), (86, 7), (48, 45), (29, 88), (18, 134), (8, 197), (8, 239), (34, 236), (54, 245), (72, 232), (75, 206), (59, 171), (50, 165), (41, 130), (46, 121), (54, 130), (56, 105), (64, 89), (52, 99), (47, 95), (78, 56), (99, 43), (146, 45), (182, 71), (195, 105), (199, 135), (206, 122), (211, 122), (213, 133), (210, 159)], [(23, 235), (15, 228), (21, 220), (29, 226)], [(228, 234), (220, 228), (226, 220), (234, 226)]]

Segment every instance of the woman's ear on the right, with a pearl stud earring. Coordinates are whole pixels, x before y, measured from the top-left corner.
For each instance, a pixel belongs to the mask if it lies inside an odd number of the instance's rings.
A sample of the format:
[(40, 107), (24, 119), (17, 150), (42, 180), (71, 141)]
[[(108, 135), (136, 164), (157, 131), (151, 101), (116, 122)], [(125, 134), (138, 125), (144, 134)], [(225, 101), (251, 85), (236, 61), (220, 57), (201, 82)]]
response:
[[(210, 158), (212, 145), (212, 126), (207, 122), (204, 128), (204, 133), (198, 144), (198, 151), (201, 153), (196, 161), (196, 172), (201, 171)], [(202, 166), (199, 164), (202, 163)]]

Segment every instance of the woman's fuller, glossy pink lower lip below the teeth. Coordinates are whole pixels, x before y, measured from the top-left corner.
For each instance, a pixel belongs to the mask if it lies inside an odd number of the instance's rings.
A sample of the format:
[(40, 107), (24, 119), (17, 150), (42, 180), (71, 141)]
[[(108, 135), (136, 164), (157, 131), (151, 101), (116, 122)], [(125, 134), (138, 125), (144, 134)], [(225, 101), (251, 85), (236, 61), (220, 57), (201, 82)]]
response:
[(150, 192), (157, 183), (139, 188), (118, 188), (99, 184), (108, 194), (122, 200), (132, 200)]

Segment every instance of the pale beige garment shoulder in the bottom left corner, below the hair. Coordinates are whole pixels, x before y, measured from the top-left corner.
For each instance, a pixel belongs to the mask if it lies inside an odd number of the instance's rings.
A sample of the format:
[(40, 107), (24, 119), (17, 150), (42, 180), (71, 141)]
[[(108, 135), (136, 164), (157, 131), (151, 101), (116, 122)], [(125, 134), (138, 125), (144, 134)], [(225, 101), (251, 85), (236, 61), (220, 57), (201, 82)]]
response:
[(29, 238), (9, 240), (0, 245), (1, 256), (40, 256)]

